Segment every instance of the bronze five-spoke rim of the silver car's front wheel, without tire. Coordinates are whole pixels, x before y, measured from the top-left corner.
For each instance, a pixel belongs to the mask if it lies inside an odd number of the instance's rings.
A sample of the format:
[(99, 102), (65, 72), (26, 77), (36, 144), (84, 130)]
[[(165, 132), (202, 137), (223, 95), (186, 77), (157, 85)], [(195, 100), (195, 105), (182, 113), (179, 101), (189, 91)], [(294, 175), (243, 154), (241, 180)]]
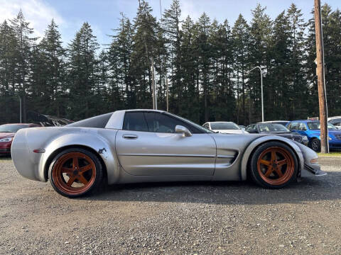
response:
[(293, 155), (283, 147), (269, 147), (259, 155), (257, 171), (261, 179), (269, 185), (283, 185), (291, 179), (295, 171)]

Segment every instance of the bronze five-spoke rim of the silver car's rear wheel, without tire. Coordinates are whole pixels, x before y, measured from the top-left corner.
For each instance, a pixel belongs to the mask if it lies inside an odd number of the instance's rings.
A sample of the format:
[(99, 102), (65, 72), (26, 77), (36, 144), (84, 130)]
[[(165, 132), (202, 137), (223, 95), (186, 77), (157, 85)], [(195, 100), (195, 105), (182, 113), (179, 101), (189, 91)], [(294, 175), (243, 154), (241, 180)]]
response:
[(55, 188), (67, 196), (78, 196), (92, 187), (96, 165), (85, 153), (67, 152), (56, 160), (51, 174)]

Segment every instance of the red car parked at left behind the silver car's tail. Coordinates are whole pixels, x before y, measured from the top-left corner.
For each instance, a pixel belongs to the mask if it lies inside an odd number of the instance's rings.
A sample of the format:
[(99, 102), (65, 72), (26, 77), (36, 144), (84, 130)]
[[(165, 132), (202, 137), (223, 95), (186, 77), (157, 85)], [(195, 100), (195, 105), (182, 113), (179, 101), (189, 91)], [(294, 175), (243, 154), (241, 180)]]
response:
[(14, 135), (21, 128), (34, 128), (40, 127), (38, 124), (33, 123), (16, 123), (0, 125), (0, 154), (11, 154), (11, 145)]

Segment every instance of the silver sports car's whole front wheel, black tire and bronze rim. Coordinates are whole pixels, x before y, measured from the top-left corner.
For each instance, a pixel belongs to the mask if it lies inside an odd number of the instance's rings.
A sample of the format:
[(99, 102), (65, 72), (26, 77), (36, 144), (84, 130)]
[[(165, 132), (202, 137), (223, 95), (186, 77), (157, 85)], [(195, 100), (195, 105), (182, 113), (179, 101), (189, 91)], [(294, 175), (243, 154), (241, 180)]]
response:
[[(272, 160), (272, 152), (275, 152), (274, 161)], [(288, 145), (282, 142), (266, 142), (257, 147), (251, 155), (249, 175), (254, 183), (264, 188), (283, 188), (296, 181), (298, 159), (293, 149)]]

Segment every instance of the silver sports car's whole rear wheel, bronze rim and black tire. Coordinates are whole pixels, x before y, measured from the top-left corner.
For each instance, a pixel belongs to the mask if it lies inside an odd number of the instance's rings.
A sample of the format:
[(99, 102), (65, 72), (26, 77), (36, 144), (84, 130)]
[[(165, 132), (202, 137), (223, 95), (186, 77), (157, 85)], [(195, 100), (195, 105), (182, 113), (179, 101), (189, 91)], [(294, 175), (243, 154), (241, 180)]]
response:
[(97, 189), (102, 183), (103, 170), (92, 152), (70, 148), (53, 159), (48, 177), (55, 191), (68, 198), (77, 198)]

